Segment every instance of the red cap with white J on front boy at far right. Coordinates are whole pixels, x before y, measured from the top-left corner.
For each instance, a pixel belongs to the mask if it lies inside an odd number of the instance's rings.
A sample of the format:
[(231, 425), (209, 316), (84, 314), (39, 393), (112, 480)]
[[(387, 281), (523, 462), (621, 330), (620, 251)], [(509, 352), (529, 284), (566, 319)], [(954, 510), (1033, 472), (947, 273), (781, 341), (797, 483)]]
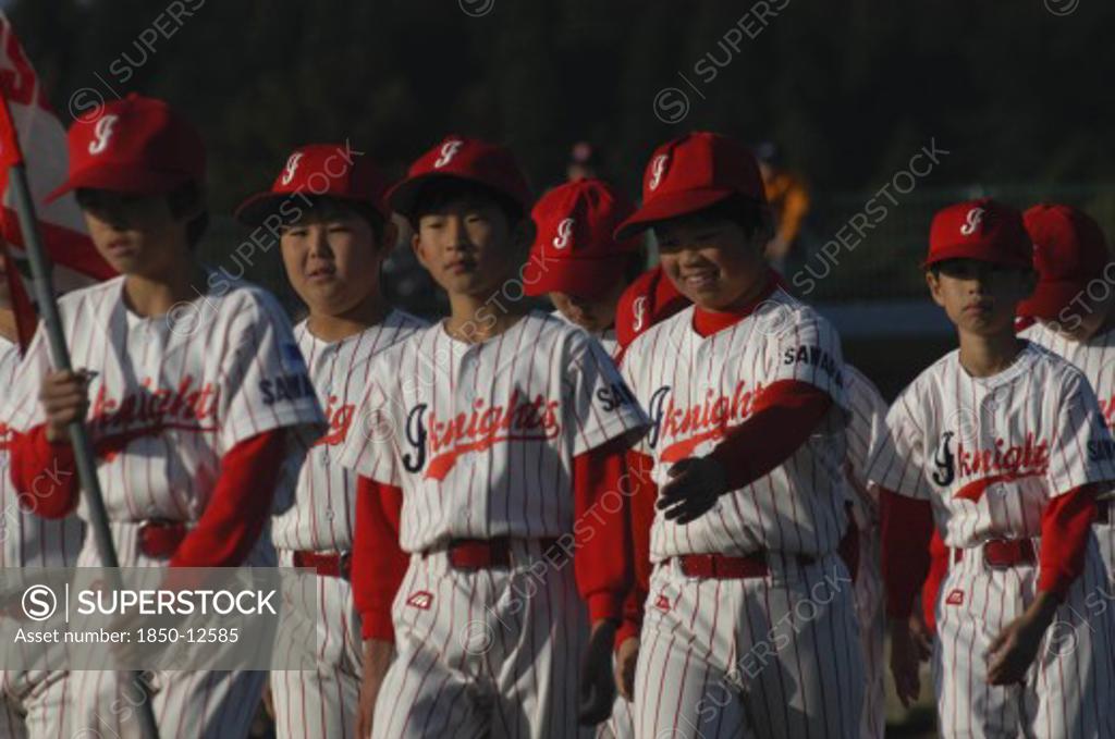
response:
[(1022, 214), (990, 197), (938, 211), (929, 227), (929, 256), (922, 266), (953, 259), (1034, 269), (1034, 242)]

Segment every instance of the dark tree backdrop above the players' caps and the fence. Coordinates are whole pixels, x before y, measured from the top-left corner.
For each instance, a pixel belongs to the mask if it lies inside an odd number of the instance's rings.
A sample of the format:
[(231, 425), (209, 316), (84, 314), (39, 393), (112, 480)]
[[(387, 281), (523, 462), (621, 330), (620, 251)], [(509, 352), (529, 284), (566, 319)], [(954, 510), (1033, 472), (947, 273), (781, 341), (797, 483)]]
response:
[[(1106, 182), (1115, 165), (1115, 4), (1099, 0), (181, 6), (194, 10), (180, 26), (162, 0), (9, 3), (64, 118), (80, 88), (187, 111), (210, 145), (216, 211), (270, 181), (294, 144), (349, 137), (399, 172), (449, 132), (510, 144), (536, 187), (589, 138), (634, 188), (651, 148), (689, 128), (775, 138), (821, 193), (878, 187), (930, 137), (952, 152), (938, 186)], [(138, 39), (159, 13), (173, 36), (149, 51)], [(755, 38), (718, 46), (746, 16)], [(708, 82), (695, 74), (705, 55)], [(673, 125), (652, 108), (668, 86), (691, 101)]]

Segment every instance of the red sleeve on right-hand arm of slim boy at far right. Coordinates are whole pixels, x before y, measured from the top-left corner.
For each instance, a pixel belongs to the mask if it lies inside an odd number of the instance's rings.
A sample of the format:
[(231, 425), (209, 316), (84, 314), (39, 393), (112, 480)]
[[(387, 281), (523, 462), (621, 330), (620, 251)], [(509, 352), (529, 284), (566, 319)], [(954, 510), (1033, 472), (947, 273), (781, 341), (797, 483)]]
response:
[(1038, 590), (1064, 597), (1084, 571), (1088, 532), (1096, 517), (1095, 487), (1082, 485), (1049, 500), (1041, 514)]

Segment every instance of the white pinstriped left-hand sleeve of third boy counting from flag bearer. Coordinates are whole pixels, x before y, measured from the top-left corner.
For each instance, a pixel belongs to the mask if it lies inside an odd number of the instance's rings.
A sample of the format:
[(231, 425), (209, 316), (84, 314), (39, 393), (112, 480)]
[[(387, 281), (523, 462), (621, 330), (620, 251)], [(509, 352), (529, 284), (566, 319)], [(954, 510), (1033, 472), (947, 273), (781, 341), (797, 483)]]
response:
[[(377, 364), (378, 362), (374, 362), (369, 370), (368, 387), (341, 446), (340, 464), (361, 477), (401, 487), (399, 450), (395, 443), (401, 415), (396, 412), (398, 409), (379, 385), (377, 369), (380, 368)], [(417, 431), (417, 425), (415, 429), (401, 429), (403, 432), (410, 430)], [(425, 439), (419, 441), (425, 443)]]

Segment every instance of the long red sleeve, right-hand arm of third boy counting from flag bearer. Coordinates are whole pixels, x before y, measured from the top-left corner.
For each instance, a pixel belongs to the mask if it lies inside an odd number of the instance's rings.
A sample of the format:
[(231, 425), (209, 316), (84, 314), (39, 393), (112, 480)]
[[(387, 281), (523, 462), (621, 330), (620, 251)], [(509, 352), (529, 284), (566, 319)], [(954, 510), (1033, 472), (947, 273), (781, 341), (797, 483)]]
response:
[(622, 620), (633, 581), (630, 504), (621, 479), (629, 446), (620, 437), (573, 458), (573, 571), (592, 623)]

